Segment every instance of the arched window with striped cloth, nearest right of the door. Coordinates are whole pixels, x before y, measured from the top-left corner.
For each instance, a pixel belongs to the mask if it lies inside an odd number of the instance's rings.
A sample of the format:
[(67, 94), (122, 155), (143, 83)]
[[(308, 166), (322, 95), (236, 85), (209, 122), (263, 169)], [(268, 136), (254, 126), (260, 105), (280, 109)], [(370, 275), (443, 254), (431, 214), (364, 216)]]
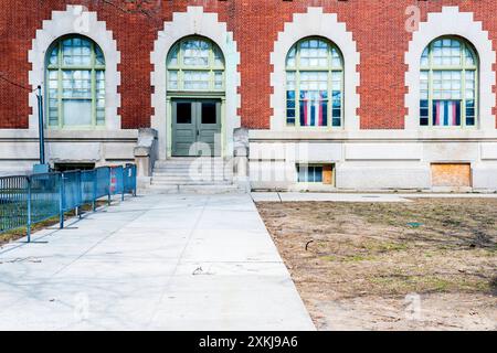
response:
[(286, 122), (300, 127), (340, 127), (343, 117), (343, 60), (331, 42), (310, 38), (286, 58)]

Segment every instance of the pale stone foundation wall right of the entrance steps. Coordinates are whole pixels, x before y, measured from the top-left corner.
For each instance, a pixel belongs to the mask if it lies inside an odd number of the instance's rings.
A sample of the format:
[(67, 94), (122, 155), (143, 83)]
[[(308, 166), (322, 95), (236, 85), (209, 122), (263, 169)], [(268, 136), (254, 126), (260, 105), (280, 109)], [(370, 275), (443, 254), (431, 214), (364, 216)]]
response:
[[(297, 163), (335, 164), (335, 184), (298, 183)], [(248, 164), (253, 190), (440, 191), (432, 188), (431, 163), (470, 163), (469, 191), (497, 192), (495, 142), (408, 137), (325, 140), (251, 131)]]

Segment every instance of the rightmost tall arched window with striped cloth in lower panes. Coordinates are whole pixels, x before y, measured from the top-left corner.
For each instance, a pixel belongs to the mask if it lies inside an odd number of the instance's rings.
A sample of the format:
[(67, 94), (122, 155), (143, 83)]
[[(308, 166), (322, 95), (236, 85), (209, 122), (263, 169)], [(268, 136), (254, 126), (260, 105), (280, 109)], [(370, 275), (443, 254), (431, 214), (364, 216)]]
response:
[(469, 43), (440, 38), (421, 56), (420, 125), (472, 127), (478, 117), (478, 58)]

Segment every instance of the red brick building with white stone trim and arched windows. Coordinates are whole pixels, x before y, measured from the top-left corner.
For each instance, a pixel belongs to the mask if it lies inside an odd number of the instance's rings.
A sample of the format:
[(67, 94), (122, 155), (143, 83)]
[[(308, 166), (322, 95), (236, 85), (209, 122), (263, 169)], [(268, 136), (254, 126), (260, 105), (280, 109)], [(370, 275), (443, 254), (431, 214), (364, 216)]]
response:
[(38, 159), (41, 85), (53, 165), (131, 161), (152, 128), (157, 165), (246, 151), (253, 188), (496, 190), (495, 13), (491, 0), (3, 1), (0, 169)]

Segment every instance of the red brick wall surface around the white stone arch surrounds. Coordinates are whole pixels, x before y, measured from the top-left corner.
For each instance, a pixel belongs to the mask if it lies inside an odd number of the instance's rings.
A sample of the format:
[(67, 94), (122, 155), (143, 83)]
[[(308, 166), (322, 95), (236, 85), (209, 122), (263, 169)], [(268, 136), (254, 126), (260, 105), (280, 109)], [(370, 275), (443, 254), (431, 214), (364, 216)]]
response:
[[(305, 12), (308, 6), (337, 12), (353, 33), (361, 55), (359, 67), (361, 106), (358, 114), (363, 129), (401, 129), (404, 115), (404, 53), (411, 34), (405, 31), (405, 9), (417, 4), (422, 21), (427, 12), (438, 12), (443, 6), (458, 6), (483, 21), (497, 50), (497, 2), (495, 0), (0, 0), (0, 128), (28, 128), (28, 51), (42, 21), (51, 19), (53, 10), (66, 4), (83, 4), (98, 13), (113, 31), (121, 54), (123, 128), (150, 125), (150, 52), (163, 21), (187, 6), (203, 6), (207, 12), (218, 12), (228, 23), (241, 52), (242, 125), (254, 129), (269, 126), (269, 54), (277, 32), (292, 21), (294, 12)], [(136, 4), (137, 3), (137, 4)], [(17, 85), (7, 83), (13, 82)]]

